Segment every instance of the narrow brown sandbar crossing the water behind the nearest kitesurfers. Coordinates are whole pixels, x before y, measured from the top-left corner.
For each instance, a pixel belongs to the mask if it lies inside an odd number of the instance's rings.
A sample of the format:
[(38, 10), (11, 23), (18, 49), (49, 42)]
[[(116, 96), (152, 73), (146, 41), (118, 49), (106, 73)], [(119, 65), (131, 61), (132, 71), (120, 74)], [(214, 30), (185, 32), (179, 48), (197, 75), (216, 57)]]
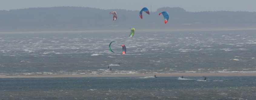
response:
[[(155, 74), (157, 77), (214, 77), (214, 76), (256, 76), (256, 72), (229, 72), (229, 73), (166, 73)], [(59, 77), (148, 77), (154, 74), (98, 74), (98, 75), (18, 75), (0, 76), (0, 78), (59, 78)]]

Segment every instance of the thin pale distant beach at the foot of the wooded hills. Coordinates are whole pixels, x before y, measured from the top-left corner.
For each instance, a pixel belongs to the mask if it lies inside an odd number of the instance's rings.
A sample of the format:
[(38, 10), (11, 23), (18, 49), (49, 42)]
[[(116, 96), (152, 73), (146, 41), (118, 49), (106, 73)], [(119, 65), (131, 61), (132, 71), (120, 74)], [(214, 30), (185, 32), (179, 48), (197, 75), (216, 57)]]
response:
[[(129, 29), (127, 29), (129, 30)], [(28, 31), (28, 32), (0, 32), (0, 34), (18, 34), (18, 33), (94, 33), (94, 32), (128, 32), (126, 29), (113, 30), (80, 30), (80, 31)], [(183, 32), (183, 31), (242, 31), (242, 30), (256, 30), (256, 28), (188, 28), (188, 29), (136, 29), (136, 31), (143, 32)]]

